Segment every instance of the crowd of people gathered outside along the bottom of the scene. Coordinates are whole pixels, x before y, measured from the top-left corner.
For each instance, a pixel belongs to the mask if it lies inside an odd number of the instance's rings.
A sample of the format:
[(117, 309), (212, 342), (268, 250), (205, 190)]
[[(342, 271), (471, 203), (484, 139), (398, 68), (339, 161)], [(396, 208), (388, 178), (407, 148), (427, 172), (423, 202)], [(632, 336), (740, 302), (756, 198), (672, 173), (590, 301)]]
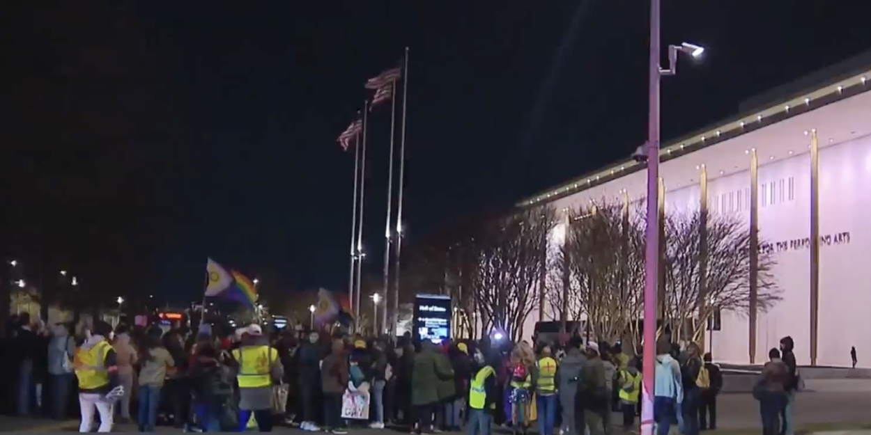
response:
[[(18, 346), (18, 414), (73, 413), (80, 432), (94, 425), (111, 432), (120, 421), (141, 432), (157, 425), (188, 432), (288, 425), (343, 434), (389, 424), (420, 434), (464, 427), (469, 435), (490, 435), (493, 425), (525, 434), (534, 424), (541, 435), (602, 435), (616, 425), (634, 430), (640, 412), (640, 348), (626, 352), (619, 343), (584, 344), (579, 337), (533, 348), (489, 338), (434, 344), (408, 335), (260, 325), (113, 329), (101, 321), (78, 337), (68, 325), (31, 324), (26, 314), (10, 331)], [(753, 391), (766, 434), (792, 434), (799, 389), (792, 346), (784, 338), (773, 350)], [(711, 355), (662, 339), (655, 367), (658, 435), (672, 425), (686, 435), (716, 428), (723, 379)], [(110, 391), (123, 392), (107, 400)], [(348, 416), (349, 394), (366, 398), (365, 415)], [(622, 421), (612, 421), (615, 414)]]

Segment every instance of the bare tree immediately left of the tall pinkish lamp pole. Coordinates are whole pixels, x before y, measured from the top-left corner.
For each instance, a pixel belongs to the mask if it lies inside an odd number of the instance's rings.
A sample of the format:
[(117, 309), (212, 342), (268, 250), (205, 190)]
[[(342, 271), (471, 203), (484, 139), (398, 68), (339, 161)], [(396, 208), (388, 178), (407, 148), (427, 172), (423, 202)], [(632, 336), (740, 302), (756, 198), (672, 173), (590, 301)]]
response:
[(622, 204), (573, 211), (562, 257), (571, 270), (571, 316), (587, 315), (598, 339), (621, 338), (639, 318), (643, 288), (643, 232)]

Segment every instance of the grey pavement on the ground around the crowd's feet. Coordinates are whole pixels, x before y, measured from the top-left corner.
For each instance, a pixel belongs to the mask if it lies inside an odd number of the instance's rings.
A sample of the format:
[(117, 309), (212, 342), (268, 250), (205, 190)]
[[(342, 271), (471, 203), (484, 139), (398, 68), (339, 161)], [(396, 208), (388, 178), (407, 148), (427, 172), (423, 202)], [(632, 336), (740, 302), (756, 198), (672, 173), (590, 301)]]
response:
[[(840, 384), (840, 383), (839, 383)], [(839, 387), (844, 385), (838, 385)], [(854, 391), (855, 390), (855, 391)], [(814, 431), (832, 430), (833, 426), (871, 427), (871, 388), (829, 388), (799, 393), (795, 400), (795, 421), (799, 427)], [(717, 427), (722, 431), (760, 428), (759, 405), (748, 394), (722, 394), (717, 403)], [(615, 415), (613, 421), (620, 421)], [(824, 425), (824, 426), (820, 426)], [(0, 417), (0, 432), (74, 432), (78, 421), (57, 422), (47, 419)], [(136, 432), (135, 425), (116, 425), (114, 432)], [(158, 432), (180, 432), (161, 426)], [(275, 432), (299, 432), (298, 429), (275, 428)], [(352, 435), (382, 435), (384, 430), (352, 428)], [(388, 433), (400, 433), (386, 431)], [(820, 432), (817, 432), (820, 433)], [(829, 435), (827, 433), (827, 435)], [(871, 435), (871, 431), (832, 432), (831, 435)]]

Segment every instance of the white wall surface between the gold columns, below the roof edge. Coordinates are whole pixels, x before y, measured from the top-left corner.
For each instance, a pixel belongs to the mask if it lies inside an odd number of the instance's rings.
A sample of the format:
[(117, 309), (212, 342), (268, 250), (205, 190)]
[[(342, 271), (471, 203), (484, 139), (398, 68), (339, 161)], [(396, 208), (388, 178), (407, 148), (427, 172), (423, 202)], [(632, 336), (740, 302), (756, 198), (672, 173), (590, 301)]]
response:
[[(871, 366), (871, 131), (856, 128), (871, 119), (871, 93), (828, 104), (667, 161), (660, 174), (665, 183), (667, 212), (699, 208), (699, 166), (708, 173), (708, 209), (733, 215), (749, 225), (750, 154), (759, 156), (760, 241), (771, 244), (777, 265), (773, 270), (783, 300), (757, 321), (757, 364), (780, 338), (796, 342), (796, 358), (811, 363), (810, 235), (811, 178), (809, 137), (820, 137), (820, 317), (818, 365), (849, 365), (850, 346), (856, 346), (860, 365)], [(558, 211), (590, 201), (618, 203), (627, 191), (633, 201), (646, 196), (646, 172), (638, 171), (596, 188), (562, 197), (551, 204)], [(643, 215), (633, 207), (634, 217)], [(865, 224), (865, 225), (863, 225)], [(562, 228), (552, 242), (562, 240)], [(560, 242), (561, 243), (561, 242)], [(551, 254), (553, 255), (553, 254)], [(550, 274), (551, 285), (561, 278)], [(533, 312), (532, 325), (537, 320)], [(558, 314), (545, 306), (545, 318)], [(530, 326), (531, 327), (531, 326)], [(719, 361), (746, 364), (750, 326), (746, 313), (724, 313), (722, 330), (712, 336)], [(530, 332), (531, 333), (531, 332)], [(525, 333), (524, 336), (530, 335)]]

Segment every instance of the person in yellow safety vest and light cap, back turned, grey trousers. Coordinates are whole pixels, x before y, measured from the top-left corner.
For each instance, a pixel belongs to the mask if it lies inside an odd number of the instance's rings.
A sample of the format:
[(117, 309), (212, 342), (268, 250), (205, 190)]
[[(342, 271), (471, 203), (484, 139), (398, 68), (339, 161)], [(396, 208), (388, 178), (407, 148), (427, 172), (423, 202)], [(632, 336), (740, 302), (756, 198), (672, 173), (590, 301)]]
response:
[(268, 345), (260, 325), (248, 325), (236, 334), (241, 342), (232, 356), (239, 381), (240, 432), (245, 432), (252, 416), (260, 432), (272, 432), (273, 379), (284, 376), (278, 351)]

